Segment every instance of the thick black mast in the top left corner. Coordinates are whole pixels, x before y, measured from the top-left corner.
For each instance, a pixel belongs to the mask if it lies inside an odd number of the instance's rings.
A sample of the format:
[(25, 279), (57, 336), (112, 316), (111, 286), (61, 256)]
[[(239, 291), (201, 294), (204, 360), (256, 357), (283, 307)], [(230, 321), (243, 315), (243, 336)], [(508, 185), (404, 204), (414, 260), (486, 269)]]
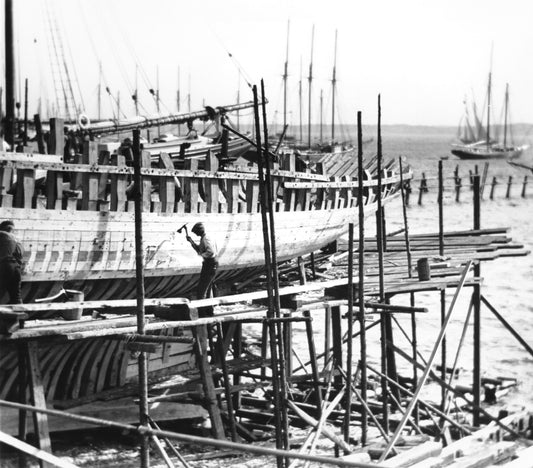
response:
[(13, 41), (13, 0), (5, 0), (5, 53), (6, 53), (6, 120), (5, 139), (15, 142), (15, 50)]

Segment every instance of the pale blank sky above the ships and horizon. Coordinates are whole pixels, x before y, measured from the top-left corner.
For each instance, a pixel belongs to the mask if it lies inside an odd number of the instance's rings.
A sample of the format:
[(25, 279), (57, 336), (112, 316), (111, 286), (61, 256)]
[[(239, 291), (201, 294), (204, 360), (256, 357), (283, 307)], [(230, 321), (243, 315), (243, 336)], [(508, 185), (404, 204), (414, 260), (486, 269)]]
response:
[[(111, 94), (103, 91), (102, 116), (116, 114), (118, 107), (121, 113), (134, 115), (130, 96), (137, 76), (144, 115), (156, 112), (150, 88), (160, 90), (160, 112), (168, 114), (177, 111), (178, 84), (184, 112), (187, 94), (193, 111), (204, 103), (233, 104), (238, 92), (241, 101), (250, 100), (247, 83), (259, 86), (263, 79), (269, 120), (282, 122), (288, 33), (287, 120), (298, 124), (301, 80), (306, 123), (314, 27), (311, 116), (315, 123), (320, 119), (321, 92), (324, 122), (330, 121), (336, 31), (337, 122), (353, 123), (361, 111), (363, 123), (376, 123), (381, 94), (384, 124), (455, 126), (465, 96), (482, 106), (491, 62), (495, 118), (501, 116), (509, 83), (512, 121), (533, 122), (531, 0), (14, 3), (17, 79), (21, 87), (28, 79), (30, 115), (36, 112), (39, 97), (42, 106), (54, 102), (53, 86), (59, 76), (57, 65), (53, 71), (58, 63), (54, 57), (64, 56), (76, 105), (91, 118), (98, 113), (99, 83)], [(55, 18), (62, 37), (55, 49), (48, 37), (49, 16)], [(61, 48), (63, 54), (54, 52)]]

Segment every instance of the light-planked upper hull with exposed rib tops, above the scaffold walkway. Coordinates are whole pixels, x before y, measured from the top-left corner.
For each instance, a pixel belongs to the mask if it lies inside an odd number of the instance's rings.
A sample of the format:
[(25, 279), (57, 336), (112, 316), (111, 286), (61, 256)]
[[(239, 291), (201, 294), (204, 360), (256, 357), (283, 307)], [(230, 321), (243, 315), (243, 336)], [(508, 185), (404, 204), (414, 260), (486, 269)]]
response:
[[(2, 154), (0, 217), (15, 222), (23, 244), (24, 302), (53, 296), (62, 288), (82, 291), (87, 300), (134, 297), (134, 210), (127, 191), (133, 171), (124, 157), (101, 148), (86, 142), (84, 164), (64, 164), (54, 155)], [(216, 239), (219, 281), (263, 265), (255, 169), (219, 170), (212, 153), (206, 156), (204, 170), (198, 169), (195, 159), (187, 160), (183, 170), (175, 170), (164, 153), (157, 168), (148, 152), (143, 152), (143, 163), (148, 297), (182, 296), (196, 284), (201, 259), (185, 236), (176, 232), (184, 224), (191, 227), (202, 221)], [(398, 187), (398, 177), (390, 170), (388, 175), (383, 180), (385, 201)], [(326, 246), (345, 233), (349, 222), (357, 222), (353, 177), (330, 180), (316, 171), (297, 172), (295, 156), (289, 155), (279, 168), (273, 168), (273, 181), (280, 261)], [(369, 185), (365, 208), (372, 211), (377, 181), (365, 184)]]

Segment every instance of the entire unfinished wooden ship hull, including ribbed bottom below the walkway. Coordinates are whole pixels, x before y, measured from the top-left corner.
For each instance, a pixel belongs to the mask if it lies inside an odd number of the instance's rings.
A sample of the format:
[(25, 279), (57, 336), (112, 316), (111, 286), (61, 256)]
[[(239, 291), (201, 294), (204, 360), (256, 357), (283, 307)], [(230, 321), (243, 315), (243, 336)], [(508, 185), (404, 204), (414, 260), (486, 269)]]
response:
[[(53, 125), (54, 141), (63, 141), (62, 128), (61, 122)], [(111, 155), (95, 142), (85, 143), (81, 160), (66, 164), (53, 154), (0, 154), (0, 217), (14, 221), (23, 244), (25, 303), (67, 288), (83, 292), (85, 300), (136, 297), (134, 202), (128, 199), (133, 170), (124, 156)], [(201, 259), (177, 232), (184, 224), (191, 227), (202, 221), (216, 240), (217, 282), (249, 277), (251, 271), (263, 268), (256, 168), (221, 170), (211, 152), (205, 156), (204, 169), (198, 169), (194, 158), (185, 160), (183, 169), (175, 169), (166, 153), (155, 164), (147, 151), (142, 152), (141, 163), (146, 297), (184, 297), (195, 288)], [(320, 164), (314, 172), (300, 172), (296, 166), (295, 155), (272, 165), (279, 261), (314, 252), (343, 235), (349, 223), (357, 223), (354, 177), (330, 177)], [(376, 208), (375, 175), (375, 167), (369, 165), (364, 181), (368, 214)], [(383, 201), (394, 198), (398, 187), (399, 177), (387, 166), (382, 174)], [(56, 321), (51, 333), (75, 324)], [(35, 353), (47, 400), (81, 404), (133, 384), (137, 360), (124, 333), (67, 342), (37, 340)], [(176, 336), (184, 331), (171, 327), (153, 333)], [(0, 398), (16, 399), (17, 345), (9, 340), (0, 344)], [(165, 343), (160, 352), (150, 355), (151, 378), (194, 367), (190, 343)]]

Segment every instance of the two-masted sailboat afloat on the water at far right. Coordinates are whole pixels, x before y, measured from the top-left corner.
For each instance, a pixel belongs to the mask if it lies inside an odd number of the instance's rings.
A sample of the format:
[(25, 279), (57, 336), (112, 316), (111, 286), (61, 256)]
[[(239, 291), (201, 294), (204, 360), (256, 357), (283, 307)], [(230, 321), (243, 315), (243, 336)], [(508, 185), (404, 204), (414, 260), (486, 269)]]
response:
[(465, 107), (465, 115), (459, 127), (458, 138), (460, 144), (452, 144), (451, 152), (461, 159), (513, 159), (519, 157), (528, 145), (517, 146), (512, 143), (508, 125), (509, 116), (509, 84), (505, 87), (503, 140), (499, 140), (491, 134), (491, 94), (492, 73), (489, 73), (487, 86), (487, 123), (483, 128), (474, 107), (474, 123), (470, 121), (468, 108)]

